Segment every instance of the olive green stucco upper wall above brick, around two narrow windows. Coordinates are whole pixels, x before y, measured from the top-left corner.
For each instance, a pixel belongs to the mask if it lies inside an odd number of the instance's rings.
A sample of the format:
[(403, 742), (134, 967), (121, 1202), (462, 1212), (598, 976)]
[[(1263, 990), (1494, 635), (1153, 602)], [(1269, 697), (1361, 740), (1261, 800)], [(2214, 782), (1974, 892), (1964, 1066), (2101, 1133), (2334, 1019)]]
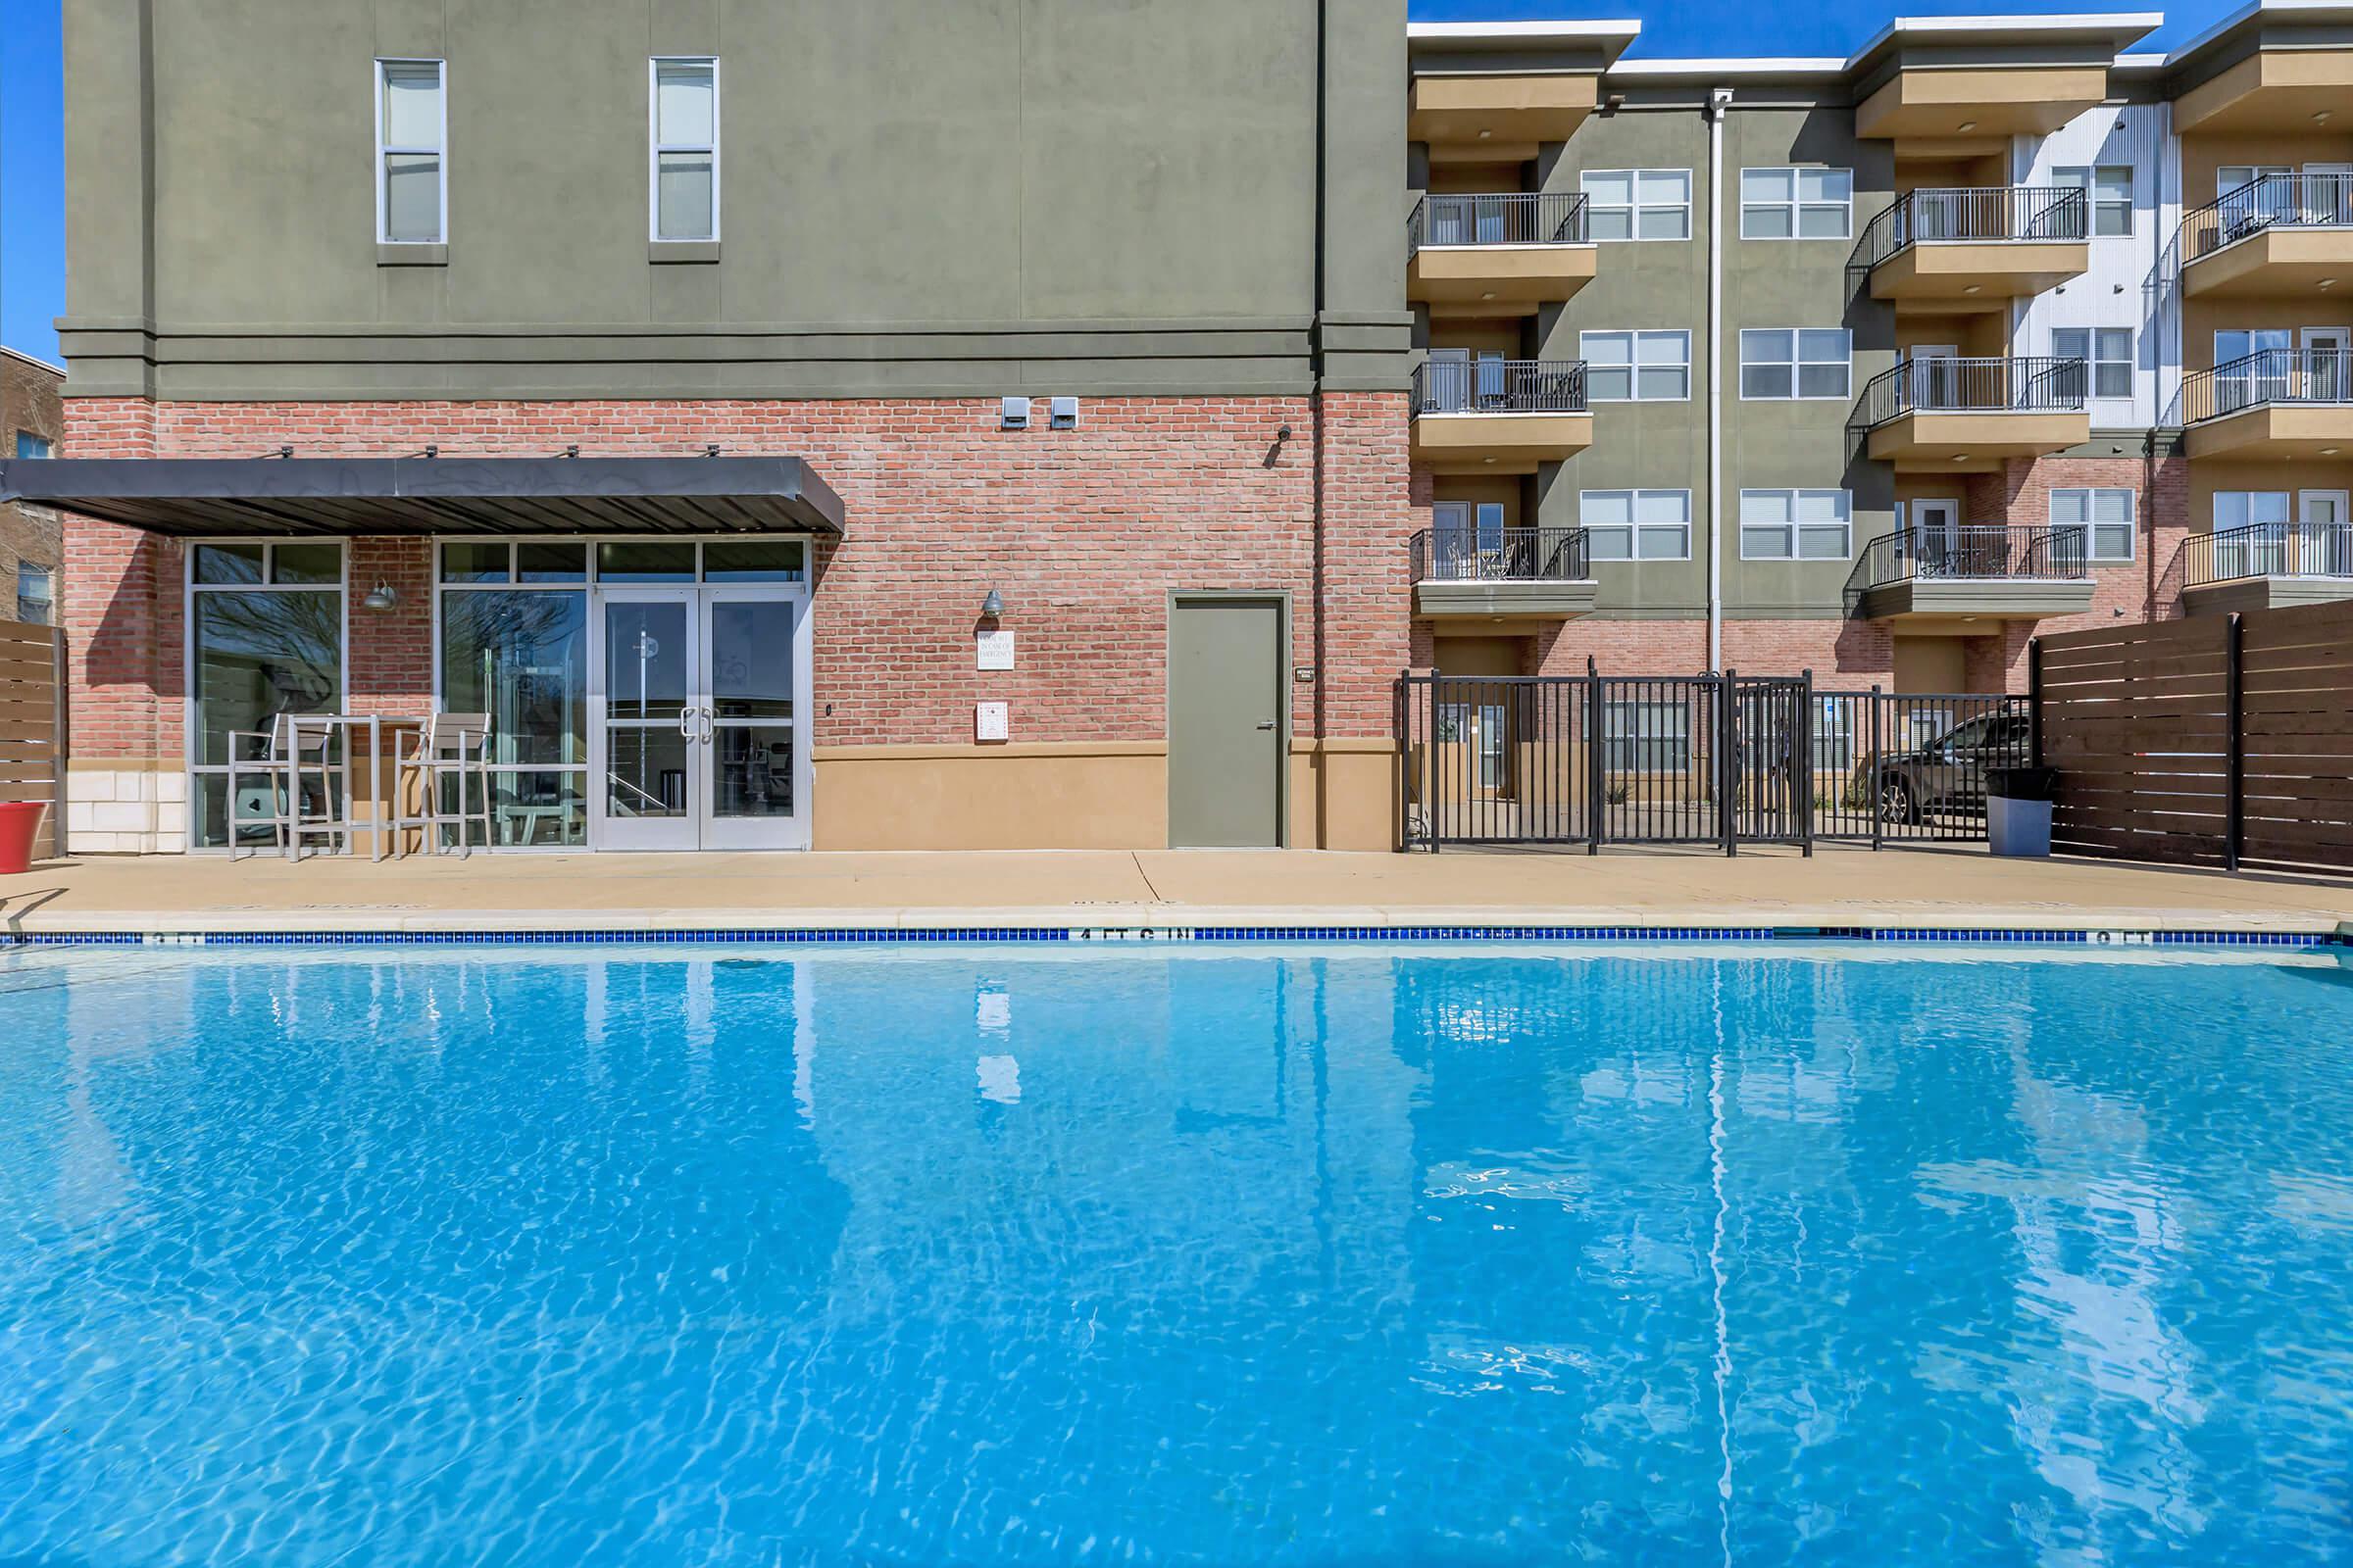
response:
[[(649, 54), (720, 56), (708, 263)], [(379, 266), (376, 56), (447, 59), (442, 266)], [(66, 0), (66, 68), (73, 393), (1402, 383), (1402, 0)]]

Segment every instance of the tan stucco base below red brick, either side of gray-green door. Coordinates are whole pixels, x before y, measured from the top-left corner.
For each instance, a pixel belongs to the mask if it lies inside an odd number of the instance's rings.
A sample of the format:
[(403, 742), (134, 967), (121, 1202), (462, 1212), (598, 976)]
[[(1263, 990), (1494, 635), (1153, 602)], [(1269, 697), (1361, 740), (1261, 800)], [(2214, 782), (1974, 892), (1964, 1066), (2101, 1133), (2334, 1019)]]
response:
[[(1393, 849), (1388, 741), (1292, 741), (1294, 849)], [(1167, 745), (821, 745), (816, 849), (1167, 849)]]

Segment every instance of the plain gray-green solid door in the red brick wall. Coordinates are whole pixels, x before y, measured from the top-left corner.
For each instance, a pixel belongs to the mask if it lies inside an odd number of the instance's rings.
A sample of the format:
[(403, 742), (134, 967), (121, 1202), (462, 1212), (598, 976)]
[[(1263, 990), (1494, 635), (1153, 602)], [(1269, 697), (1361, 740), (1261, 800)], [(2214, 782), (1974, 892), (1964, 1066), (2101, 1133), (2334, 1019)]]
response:
[(1282, 602), (1169, 614), (1169, 846), (1282, 844)]

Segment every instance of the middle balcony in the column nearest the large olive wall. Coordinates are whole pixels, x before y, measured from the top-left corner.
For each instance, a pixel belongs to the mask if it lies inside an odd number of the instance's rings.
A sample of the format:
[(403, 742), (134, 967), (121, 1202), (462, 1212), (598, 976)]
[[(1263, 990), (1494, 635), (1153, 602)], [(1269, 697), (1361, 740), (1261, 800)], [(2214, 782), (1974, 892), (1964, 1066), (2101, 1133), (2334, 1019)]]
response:
[(1431, 360), (1414, 371), (1412, 461), (1537, 473), (1593, 444), (1584, 360)]

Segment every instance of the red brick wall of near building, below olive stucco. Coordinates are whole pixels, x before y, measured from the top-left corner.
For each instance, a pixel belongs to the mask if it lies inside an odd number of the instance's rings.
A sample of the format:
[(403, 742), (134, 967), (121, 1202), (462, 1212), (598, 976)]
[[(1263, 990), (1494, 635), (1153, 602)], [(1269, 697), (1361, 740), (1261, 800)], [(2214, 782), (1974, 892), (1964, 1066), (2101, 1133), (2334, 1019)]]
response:
[[(993, 400), (146, 404), (73, 400), (78, 456), (793, 454), (842, 496), (819, 550), (814, 743), (965, 743), (1012, 703), (1014, 741), (1165, 736), (1167, 595), (1287, 590), (1299, 663), (1322, 670), (1299, 733), (1386, 736), (1407, 658), (1402, 393), (1106, 397), (1071, 433), (998, 430)], [(1292, 440), (1278, 449), (1275, 433)], [(1325, 541), (1318, 548), (1318, 505)], [(181, 559), (146, 534), (68, 522), (82, 757), (181, 755)], [(391, 583), (400, 602), (358, 597)], [(424, 541), (351, 557), (355, 705), (431, 701)], [(1005, 597), (1009, 675), (979, 675), (981, 599)], [(1329, 604), (1329, 623), (1318, 618)]]

